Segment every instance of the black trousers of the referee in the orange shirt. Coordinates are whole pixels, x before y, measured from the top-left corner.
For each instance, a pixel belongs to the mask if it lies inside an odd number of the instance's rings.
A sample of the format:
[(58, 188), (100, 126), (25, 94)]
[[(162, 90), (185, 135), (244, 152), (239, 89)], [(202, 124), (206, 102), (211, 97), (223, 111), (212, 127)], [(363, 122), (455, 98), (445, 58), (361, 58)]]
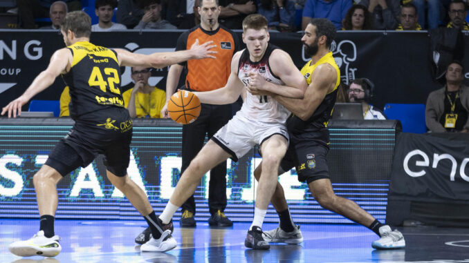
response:
[[(201, 106), (199, 117), (192, 124), (183, 126), (183, 166), (181, 167), (181, 175), (203, 147), (205, 134), (208, 139), (212, 138), (231, 119), (231, 104), (201, 104)], [(208, 206), (211, 215), (217, 213), (218, 210), (224, 211), (226, 208), (226, 162), (215, 166), (210, 171)], [(183, 210), (195, 214), (194, 195), (189, 197), (181, 207)]]

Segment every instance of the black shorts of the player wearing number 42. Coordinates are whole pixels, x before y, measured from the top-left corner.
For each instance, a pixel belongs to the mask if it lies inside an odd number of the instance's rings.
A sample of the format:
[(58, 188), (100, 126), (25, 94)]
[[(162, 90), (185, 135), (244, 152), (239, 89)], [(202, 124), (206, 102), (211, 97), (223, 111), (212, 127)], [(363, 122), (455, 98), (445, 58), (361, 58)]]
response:
[(107, 170), (122, 177), (129, 167), (131, 139), (132, 121), (125, 108), (87, 114), (53, 148), (46, 165), (66, 176), (102, 154)]

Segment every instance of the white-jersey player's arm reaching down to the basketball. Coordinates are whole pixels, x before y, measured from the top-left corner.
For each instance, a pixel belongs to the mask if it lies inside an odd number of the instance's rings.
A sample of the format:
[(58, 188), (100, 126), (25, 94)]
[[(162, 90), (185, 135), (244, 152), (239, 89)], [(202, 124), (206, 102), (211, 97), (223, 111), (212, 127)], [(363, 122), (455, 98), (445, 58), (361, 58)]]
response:
[(216, 90), (194, 92), (199, 97), (201, 103), (205, 104), (231, 104), (235, 102), (241, 92), (243, 91), (244, 84), (238, 77), (238, 64), (241, 52), (237, 52), (231, 60), (231, 73), (228, 77), (228, 81), (223, 88), (217, 88)]

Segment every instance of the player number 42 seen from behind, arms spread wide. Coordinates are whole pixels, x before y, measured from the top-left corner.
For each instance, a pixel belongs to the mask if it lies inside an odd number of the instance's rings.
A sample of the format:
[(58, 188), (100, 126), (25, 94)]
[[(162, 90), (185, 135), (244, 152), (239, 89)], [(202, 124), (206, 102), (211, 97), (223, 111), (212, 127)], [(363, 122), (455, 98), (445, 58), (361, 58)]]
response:
[(46, 164), (33, 177), (41, 215), (39, 232), (29, 240), (10, 244), (10, 251), (22, 257), (53, 257), (62, 251), (60, 238), (54, 233), (56, 184), (76, 168), (88, 166), (98, 154), (104, 155), (109, 181), (125, 194), (151, 228), (153, 237), (140, 250), (174, 249), (176, 240), (171, 231), (158, 225), (145, 193), (127, 175), (132, 121), (122, 101), (120, 66), (163, 68), (187, 59), (214, 58), (214, 45), (211, 41), (202, 45), (196, 41), (189, 50), (151, 55), (110, 50), (89, 42), (91, 19), (82, 11), (66, 14), (61, 31), (67, 47), (57, 50), (48, 68), (1, 112), (8, 112), (8, 117), (21, 115), (21, 106), (62, 75), (70, 88), (70, 115), (75, 120), (72, 130), (53, 148)]

